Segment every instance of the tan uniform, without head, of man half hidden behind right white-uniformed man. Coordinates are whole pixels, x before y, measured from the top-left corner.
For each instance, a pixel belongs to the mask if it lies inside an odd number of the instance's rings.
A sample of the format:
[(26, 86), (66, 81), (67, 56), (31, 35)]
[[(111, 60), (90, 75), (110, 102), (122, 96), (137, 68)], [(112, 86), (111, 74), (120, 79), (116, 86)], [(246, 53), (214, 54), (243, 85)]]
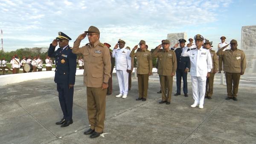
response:
[(205, 97), (212, 97), (213, 93), (213, 80), (214, 80), (214, 71), (218, 70), (218, 57), (214, 50), (209, 50), (212, 57), (212, 71), (210, 72), (210, 77), (206, 80), (206, 91)]

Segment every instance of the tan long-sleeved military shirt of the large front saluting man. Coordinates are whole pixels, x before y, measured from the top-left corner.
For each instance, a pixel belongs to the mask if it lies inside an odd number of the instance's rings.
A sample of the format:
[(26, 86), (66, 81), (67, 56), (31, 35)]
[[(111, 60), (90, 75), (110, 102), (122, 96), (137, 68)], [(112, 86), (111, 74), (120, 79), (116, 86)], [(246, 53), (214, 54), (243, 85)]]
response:
[(87, 43), (79, 48), (81, 40), (76, 40), (72, 52), (82, 54), (84, 59), (84, 84), (88, 87), (101, 87), (111, 77), (109, 49), (99, 40), (93, 45)]

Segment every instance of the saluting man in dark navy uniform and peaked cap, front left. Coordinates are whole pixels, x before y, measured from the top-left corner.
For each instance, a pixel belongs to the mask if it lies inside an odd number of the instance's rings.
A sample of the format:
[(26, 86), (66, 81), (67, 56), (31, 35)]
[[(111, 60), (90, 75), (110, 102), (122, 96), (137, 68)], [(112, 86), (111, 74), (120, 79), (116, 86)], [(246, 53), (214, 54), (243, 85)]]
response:
[[(64, 115), (61, 121), (56, 122), (56, 124), (62, 124), (61, 127), (67, 127), (73, 123), (72, 107), (76, 76), (76, 55), (72, 53), (72, 48), (68, 45), (71, 38), (63, 32), (58, 32), (58, 35), (50, 44), (48, 55), (56, 60), (54, 81), (57, 83), (58, 97)], [(60, 48), (54, 52), (57, 45)]]

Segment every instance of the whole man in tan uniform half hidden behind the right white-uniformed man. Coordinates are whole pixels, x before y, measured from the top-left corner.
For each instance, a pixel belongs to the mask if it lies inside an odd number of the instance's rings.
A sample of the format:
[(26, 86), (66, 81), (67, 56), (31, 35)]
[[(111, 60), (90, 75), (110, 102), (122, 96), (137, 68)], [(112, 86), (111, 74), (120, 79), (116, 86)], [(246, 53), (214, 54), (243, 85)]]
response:
[(210, 72), (210, 77), (206, 80), (206, 91), (204, 98), (212, 99), (213, 94), (213, 81), (214, 81), (214, 75), (216, 72), (218, 72), (218, 57), (214, 50), (212, 50), (211, 42), (209, 40), (206, 40), (204, 43), (204, 46), (206, 49), (209, 49), (211, 58), (212, 58), (212, 70)]

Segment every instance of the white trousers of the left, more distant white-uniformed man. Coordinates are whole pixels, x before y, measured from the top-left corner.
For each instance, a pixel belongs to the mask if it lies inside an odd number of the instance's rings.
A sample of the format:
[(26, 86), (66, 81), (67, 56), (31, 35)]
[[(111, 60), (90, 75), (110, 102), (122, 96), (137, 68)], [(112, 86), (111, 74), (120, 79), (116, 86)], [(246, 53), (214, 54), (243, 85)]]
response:
[(119, 84), (120, 94), (128, 94), (129, 73), (122, 70), (116, 70), (117, 80)]

